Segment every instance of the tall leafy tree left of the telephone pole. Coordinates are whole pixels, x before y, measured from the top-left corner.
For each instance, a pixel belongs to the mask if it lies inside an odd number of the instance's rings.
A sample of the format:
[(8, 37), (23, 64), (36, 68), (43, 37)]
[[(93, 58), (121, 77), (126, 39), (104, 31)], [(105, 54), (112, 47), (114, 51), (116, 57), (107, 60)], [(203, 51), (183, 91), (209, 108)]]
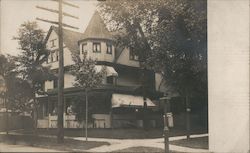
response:
[(24, 22), (21, 24), (17, 37), (21, 53), (15, 58), (17, 62), (17, 72), (20, 78), (27, 81), (31, 88), (32, 117), (34, 120), (34, 130), (37, 127), (37, 109), (38, 102), (36, 94), (42, 94), (42, 85), (44, 81), (53, 78), (49, 67), (43, 66), (49, 52), (44, 43), (44, 32), (38, 27), (36, 22)]

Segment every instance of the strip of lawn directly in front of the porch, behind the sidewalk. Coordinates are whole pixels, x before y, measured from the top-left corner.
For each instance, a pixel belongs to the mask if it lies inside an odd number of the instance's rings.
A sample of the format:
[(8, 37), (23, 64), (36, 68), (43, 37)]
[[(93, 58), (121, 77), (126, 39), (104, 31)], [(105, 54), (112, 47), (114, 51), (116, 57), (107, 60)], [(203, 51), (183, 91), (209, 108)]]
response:
[[(30, 131), (20, 131), (22, 134), (30, 134)], [(38, 129), (39, 135), (56, 135), (56, 129)], [(196, 129), (192, 134), (206, 133), (205, 130)], [(83, 137), (85, 132), (82, 129), (64, 129), (65, 136)], [(185, 130), (171, 129), (170, 137), (185, 135)], [(113, 139), (150, 139), (162, 138), (163, 130), (159, 129), (88, 129), (88, 136), (93, 138), (113, 138)]]

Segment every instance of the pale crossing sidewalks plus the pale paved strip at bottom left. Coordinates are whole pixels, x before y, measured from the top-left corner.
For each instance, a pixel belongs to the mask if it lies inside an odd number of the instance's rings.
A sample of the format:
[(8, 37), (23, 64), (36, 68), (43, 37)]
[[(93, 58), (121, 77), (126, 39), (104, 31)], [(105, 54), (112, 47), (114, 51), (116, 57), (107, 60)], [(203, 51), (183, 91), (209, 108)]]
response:
[[(0, 133), (4, 134), (4, 133)], [(22, 135), (15, 133), (17, 135)], [(198, 137), (205, 137), (208, 134), (198, 134), (198, 135), (191, 135), (190, 138), (198, 138)], [(42, 137), (55, 137), (55, 136), (48, 136), (43, 135)], [(80, 141), (85, 141), (85, 137), (65, 137), (69, 139), (75, 139)], [(170, 137), (169, 141), (174, 140), (182, 140), (186, 139), (186, 136), (176, 136)], [(75, 150), (75, 151), (86, 151), (86, 152), (112, 152), (117, 150), (122, 150), (131, 147), (153, 147), (153, 148), (161, 148), (164, 149), (164, 138), (155, 138), (155, 139), (108, 139), (108, 138), (88, 138), (88, 141), (101, 141), (101, 142), (108, 142), (110, 145), (103, 145), (96, 148), (92, 148), (89, 150)], [(209, 150), (207, 149), (195, 149), (190, 147), (182, 147), (177, 145), (169, 145), (171, 151), (176, 152), (192, 152), (192, 153), (208, 153)], [(24, 152), (58, 152), (56, 150), (51, 149), (44, 149), (38, 147), (30, 147), (30, 146), (23, 146), (23, 145), (7, 145), (0, 143), (0, 152), (15, 152), (15, 151), (24, 151)]]

